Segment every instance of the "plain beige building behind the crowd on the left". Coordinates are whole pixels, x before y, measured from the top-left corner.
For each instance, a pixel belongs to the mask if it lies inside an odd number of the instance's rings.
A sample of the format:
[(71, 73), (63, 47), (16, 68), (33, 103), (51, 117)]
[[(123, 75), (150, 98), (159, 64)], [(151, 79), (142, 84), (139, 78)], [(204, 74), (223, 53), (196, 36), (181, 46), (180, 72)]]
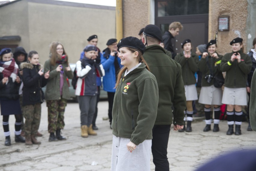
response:
[(0, 48), (23, 46), (38, 51), (44, 64), (49, 45), (59, 41), (75, 63), (96, 34), (103, 50), (115, 38), (115, 7), (54, 0), (16, 0), (0, 5)]

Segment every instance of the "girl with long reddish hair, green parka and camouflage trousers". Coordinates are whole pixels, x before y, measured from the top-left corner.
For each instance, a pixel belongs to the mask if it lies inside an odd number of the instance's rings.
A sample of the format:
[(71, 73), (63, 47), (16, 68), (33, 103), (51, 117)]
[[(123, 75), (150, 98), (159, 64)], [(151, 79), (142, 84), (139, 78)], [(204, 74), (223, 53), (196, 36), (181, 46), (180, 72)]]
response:
[[(73, 78), (69, 67), (68, 55), (59, 42), (50, 45), (50, 59), (45, 61), (44, 73), (50, 71), (45, 91), (45, 100), (48, 107), (49, 141), (66, 140), (60, 133), (64, 128), (64, 111), (67, 100), (70, 99), (67, 78)], [(56, 132), (56, 136), (55, 133)]]

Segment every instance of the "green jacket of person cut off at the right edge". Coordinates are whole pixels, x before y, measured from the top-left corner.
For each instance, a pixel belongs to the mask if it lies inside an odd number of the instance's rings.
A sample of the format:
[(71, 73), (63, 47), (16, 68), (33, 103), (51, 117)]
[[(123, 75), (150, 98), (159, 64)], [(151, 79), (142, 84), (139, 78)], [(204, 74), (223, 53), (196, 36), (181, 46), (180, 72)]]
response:
[(256, 131), (256, 70), (254, 70), (252, 79), (251, 79), (251, 96), (250, 96), (250, 123), (251, 129)]

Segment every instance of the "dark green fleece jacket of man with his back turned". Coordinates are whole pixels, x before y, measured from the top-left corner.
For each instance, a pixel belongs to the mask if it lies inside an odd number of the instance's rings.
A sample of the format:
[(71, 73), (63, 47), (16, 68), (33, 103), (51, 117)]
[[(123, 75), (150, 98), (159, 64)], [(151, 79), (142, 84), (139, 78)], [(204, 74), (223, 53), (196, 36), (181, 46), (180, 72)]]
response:
[(174, 125), (184, 125), (186, 97), (180, 64), (167, 56), (160, 45), (147, 46), (143, 57), (156, 77), (159, 89), (155, 125), (171, 125), (172, 117)]

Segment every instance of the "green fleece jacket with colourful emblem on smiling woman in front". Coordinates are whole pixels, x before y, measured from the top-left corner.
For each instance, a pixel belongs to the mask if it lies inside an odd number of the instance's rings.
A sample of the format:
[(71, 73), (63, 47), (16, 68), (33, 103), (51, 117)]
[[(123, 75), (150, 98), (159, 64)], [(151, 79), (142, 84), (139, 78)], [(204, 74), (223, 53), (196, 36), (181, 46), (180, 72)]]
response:
[(155, 76), (142, 63), (120, 80), (112, 111), (112, 133), (139, 145), (152, 139), (157, 117), (158, 87)]

